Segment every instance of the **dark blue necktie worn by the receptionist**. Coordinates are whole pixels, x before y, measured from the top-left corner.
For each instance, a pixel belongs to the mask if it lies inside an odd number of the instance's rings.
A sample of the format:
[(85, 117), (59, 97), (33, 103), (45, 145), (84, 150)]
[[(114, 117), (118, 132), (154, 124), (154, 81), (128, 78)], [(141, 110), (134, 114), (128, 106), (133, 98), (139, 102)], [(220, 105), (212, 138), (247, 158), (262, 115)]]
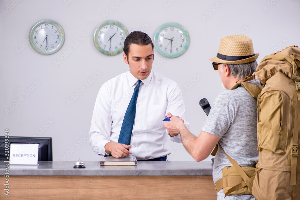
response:
[(127, 107), (120, 135), (119, 135), (119, 140), (118, 143), (130, 144), (130, 139), (131, 139), (131, 133), (132, 133), (132, 128), (133, 128), (133, 123), (134, 123), (134, 118), (135, 118), (135, 111), (137, 108), (137, 95), (139, 94), (139, 88), (140, 88), (140, 83), (142, 81), (138, 80), (137, 81), (137, 86), (134, 88), (134, 93), (131, 97), (131, 100), (129, 102), (129, 105)]

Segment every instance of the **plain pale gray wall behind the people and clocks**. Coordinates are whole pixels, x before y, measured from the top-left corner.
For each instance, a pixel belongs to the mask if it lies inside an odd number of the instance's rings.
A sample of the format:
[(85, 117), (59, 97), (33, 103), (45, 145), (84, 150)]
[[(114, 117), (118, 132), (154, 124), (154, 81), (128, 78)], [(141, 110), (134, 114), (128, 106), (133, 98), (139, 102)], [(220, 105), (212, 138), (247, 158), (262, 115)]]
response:
[[(276, 49), (300, 45), (299, 8), (298, 0), (1, 0), (0, 135), (8, 128), (10, 136), (52, 137), (53, 160), (99, 160), (88, 142), (95, 99), (101, 85), (127, 71), (128, 65), (122, 54), (109, 57), (97, 51), (93, 33), (101, 22), (117, 20), (128, 32), (142, 29), (152, 39), (156, 29), (167, 22), (187, 29), (190, 46), (186, 53), (167, 59), (155, 50), (152, 70), (182, 88), (186, 120), (197, 136), (206, 119), (199, 100), (207, 98), (212, 104), (223, 91), (208, 60), (216, 56), (220, 38), (247, 35), (255, 53), (260, 53), (259, 62)], [(30, 28), (41, 19), (55, 20), (64, 29), (64, 45), (55, 54), (38, 54), (27, 42)], [(82, 34), (88, 37), (81, 41)], [(81, 43), (75, 48), (74, 41)], [(69, 48), (72, 52), (64, 57)], [(59, 58), (65, 59), (55, 66)], [(93, 84), (86, 84), (95, 72), (102, 74)], [(81, 87), (85, 91), (69, 105), (67, 100)], [(20, 97), (23, 101), (17, 101)], [(13, 104), (14, 110), (7, 114), (5, 110)], [(170, 142), (170, 147), (169, 160), (193, 160), (182, 145)]]

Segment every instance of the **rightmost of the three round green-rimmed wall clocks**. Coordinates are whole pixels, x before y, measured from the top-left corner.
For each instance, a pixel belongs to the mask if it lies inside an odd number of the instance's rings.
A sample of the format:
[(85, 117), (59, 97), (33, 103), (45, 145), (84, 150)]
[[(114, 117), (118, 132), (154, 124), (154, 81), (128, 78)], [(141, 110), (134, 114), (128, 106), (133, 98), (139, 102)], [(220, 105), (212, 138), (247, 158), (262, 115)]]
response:
[(165, 57), (179, 57), (187, 50), (190, 37), (187, 30), (177, 23), (161, 25), (154, 35), (155, 49)]

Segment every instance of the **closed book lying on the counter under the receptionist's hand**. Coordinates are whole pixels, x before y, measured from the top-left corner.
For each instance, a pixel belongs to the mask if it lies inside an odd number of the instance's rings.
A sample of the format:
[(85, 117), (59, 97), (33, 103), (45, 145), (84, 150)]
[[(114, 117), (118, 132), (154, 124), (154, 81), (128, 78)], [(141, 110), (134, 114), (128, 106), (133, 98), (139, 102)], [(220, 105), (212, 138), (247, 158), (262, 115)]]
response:
[(137, 159), (134, 156), (128, 156), (125, 158), (115, 158), (113, 156), (102, 157), (100, 159), (100, 165), (136, 165)]

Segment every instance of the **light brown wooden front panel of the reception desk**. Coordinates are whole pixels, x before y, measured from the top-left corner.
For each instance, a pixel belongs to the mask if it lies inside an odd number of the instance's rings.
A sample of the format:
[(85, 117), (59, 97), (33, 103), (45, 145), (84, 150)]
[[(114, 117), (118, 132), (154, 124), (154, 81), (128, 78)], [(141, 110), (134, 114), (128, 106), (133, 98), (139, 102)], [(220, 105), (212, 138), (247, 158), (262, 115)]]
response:
[[(1, 183), (5, 183), (1, 177)], [(217, 199), (212, 176), (9, 176), (0, 199)]]

